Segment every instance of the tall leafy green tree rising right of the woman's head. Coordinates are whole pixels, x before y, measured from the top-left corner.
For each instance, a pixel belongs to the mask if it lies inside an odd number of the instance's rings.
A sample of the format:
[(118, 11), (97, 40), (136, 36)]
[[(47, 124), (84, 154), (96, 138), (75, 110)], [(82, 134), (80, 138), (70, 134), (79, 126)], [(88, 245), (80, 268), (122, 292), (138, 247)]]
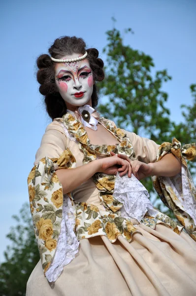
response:
[[(131, 29), (126, 33), (132, 32)], [(171, 79), (166, 70), (157, 71), (153, 59), (145, 53), (124, 45), (119, 30), (106, 32), (105, 79), (99, 83), (100, 93), (107, 102), (99, 106), (100, 113), (124, 129), (163, 143), (170, 134), (169, 110), (164, 106), (168, 95), (163, 82)], [(153, 191), (150, 178), (142, 181)]]

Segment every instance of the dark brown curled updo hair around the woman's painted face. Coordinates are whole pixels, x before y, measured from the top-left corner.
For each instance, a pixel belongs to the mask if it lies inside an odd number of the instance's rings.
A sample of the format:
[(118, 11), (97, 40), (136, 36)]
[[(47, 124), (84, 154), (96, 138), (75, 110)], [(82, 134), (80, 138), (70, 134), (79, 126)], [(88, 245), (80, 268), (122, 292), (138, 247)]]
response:
[[(98, 50), (96, 48), (86, 49), (86, 43), (82, 38), (75, 36), (60, 37), (55, 40), (48, 51), (55, 59), (62, 59), (66, 55), (73, 53), (85, 54), (85, 51), (87, 51), (86, 59), (92, 69), (94, 81), (103, 80), (103, 61), (98, 58)], [(66, 105), (55, 83), (55, 62), (51, 60), (48, 54), (42, 54), (37, 58), (37, 67), (39, 69), (37, 71), (37, 81), (41, 84), (39, 91), (45, 97), (46, 110), (52, 119), (62, 117), (66, 113)], [(96, 107), (98, 105), (96, 84), (93, 85), (91, 98), (92, 106)]]

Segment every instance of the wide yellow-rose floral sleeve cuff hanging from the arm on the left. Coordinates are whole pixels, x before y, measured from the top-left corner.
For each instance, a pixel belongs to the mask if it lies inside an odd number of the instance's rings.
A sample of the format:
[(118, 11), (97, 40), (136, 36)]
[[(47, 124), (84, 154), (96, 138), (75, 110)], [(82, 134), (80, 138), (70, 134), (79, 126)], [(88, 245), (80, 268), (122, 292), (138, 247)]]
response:
[(63, 188), (55, 174), (55, 165), (58, 169), (75, 167), (75, 158), (68, 148), (59, 159), (42, 158), (28, 177), (33, 227), (44, 272), (55, 255), (61, 231)]

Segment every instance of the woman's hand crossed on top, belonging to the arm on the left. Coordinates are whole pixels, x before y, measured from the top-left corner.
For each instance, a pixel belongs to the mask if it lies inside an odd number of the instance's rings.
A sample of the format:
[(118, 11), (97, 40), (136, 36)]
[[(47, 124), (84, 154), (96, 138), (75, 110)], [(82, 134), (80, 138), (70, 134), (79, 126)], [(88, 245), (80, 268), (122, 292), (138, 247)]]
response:
[(112, 155), (111, 157), (105, 157), (97, 160), (99, 162), (98, 172), (107, 175), (116, 175), (117, 172), (119, 172), (120, 170), (120, 176), (122, 177), (131, 170), (131, 164), (126, 159), (118, 157), (118, 155), (115, 153), (113, 154), (114, 155)]

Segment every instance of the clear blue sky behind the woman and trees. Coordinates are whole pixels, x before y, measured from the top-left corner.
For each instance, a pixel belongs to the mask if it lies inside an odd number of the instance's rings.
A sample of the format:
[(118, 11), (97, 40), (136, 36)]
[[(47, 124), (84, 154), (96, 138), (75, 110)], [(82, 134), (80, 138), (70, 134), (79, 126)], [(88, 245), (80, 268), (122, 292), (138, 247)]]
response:
[(172, 76), (163, 90), (171, 117), (179, 122), (180, 105), (191, 105), (189, 86), (196, 83), (195, 12), (195, 0), (0, 1), (0, 261), (11, 216), (28, 201), (27, 176), (50, 123), (35, 78), (37, 56), (57, 37), (75, 35), (98, 48), (104, 60), (105, 32), (115, 17), (121, 32), (134, 31), (125, 43), (151, 55), (155, 70), (167, 69)]

